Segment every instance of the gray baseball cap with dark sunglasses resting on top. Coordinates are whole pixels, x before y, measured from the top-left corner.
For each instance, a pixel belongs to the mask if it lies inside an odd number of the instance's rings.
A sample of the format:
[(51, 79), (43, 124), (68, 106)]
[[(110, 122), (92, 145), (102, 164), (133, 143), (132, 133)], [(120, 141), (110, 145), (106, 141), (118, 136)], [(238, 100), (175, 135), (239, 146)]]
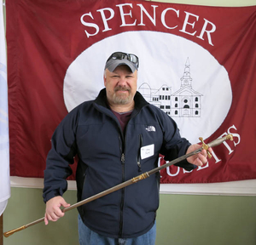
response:
[(113, 72), (117, 66), (121, 65), (128, 66), (132, 73), (134, 73), (138, 68), (138, 58), (135, 54), (115, 52), (108, 58), (104, 70), (108, 69), (108, 71)]

